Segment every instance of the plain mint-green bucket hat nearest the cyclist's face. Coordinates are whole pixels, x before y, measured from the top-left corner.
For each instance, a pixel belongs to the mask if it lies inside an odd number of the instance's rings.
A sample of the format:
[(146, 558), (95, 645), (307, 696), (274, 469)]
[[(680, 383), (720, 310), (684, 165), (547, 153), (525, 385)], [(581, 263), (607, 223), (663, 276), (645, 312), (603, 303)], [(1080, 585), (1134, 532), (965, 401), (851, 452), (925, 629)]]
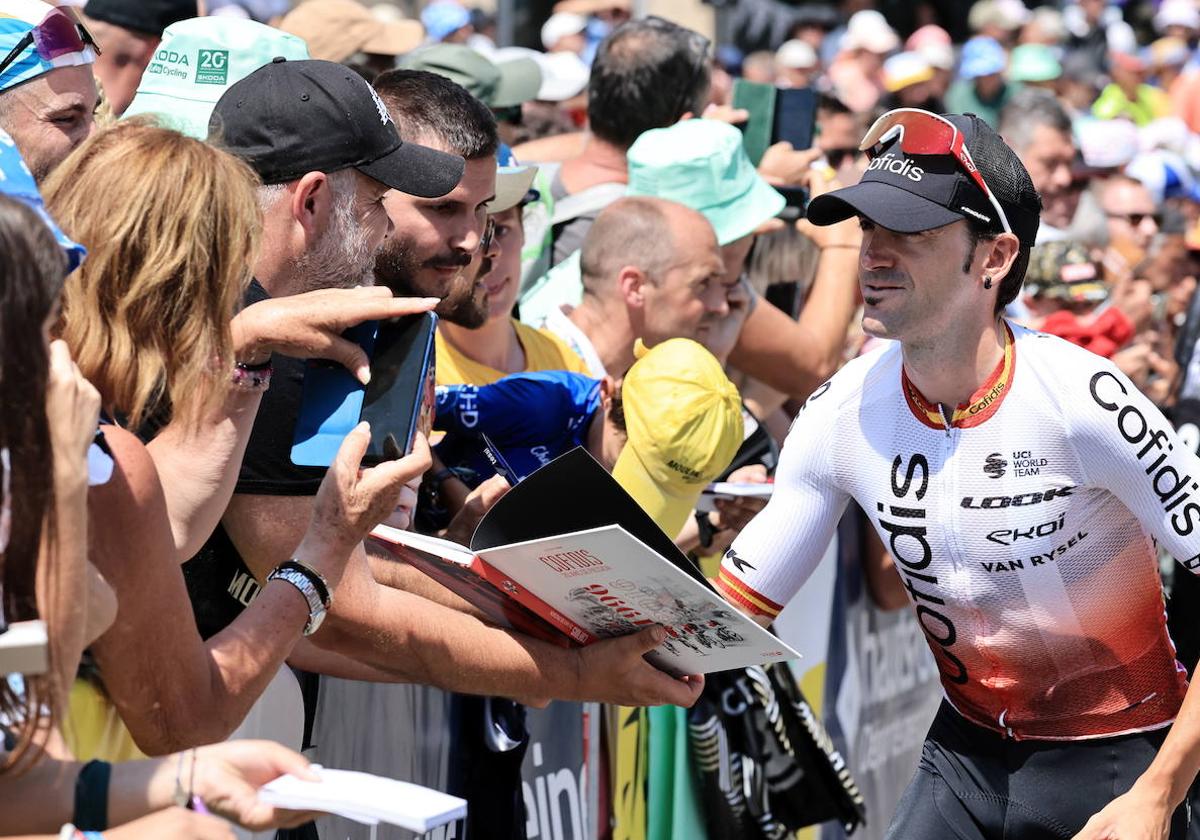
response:
[(784, 209), (742, 146), (742, 132), (716, 120), (652, 128), (629, 148), (628, 196), (655, 196), (698, 210), (728, 245)]

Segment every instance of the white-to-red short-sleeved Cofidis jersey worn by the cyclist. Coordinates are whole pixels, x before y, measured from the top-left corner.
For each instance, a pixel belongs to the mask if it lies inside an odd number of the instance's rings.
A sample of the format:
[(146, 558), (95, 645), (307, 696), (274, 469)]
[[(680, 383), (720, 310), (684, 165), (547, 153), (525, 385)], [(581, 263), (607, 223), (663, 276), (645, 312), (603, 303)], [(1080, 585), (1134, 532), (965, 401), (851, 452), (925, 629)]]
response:
[(894, 343), (818, 388), (719, 587), (775, 616), (853, 499), (967, 719), (1044, 739), (1163, 726), (1187, 679), (1154, 539), (1200, 565), (1200, 460), (1110, 361), (1007, 330), (1003, 360), (952, 416), (908, 383)]

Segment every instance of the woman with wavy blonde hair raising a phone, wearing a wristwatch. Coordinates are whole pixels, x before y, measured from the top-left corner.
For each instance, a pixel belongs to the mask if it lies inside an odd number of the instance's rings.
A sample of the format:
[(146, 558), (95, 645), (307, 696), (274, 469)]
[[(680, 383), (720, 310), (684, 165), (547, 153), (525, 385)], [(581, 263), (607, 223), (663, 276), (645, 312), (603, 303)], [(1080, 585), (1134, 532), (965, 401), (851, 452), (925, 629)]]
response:
[[(91, 650), (108, 697), (146, 754), (227, 737), (319, 618), (301, 596), (302, 582), (271, 580), (238, 620), (202, 641), (179, 569), (232, 493), (269, 384), (269, 371), (252, 362), (278, 352), (361, 371), (366, 359), (337, 337), (342, 330), (432, 305), (392, 299), (386, 289), (341, 289), (235, 316), (256, 259), (257, 185), (232, 155), (136, 120), (91, 137), (46, 184), (61, 227), (89, 248), (67, 280), (60, 332), (118, 424), (106, 426), (116, 469), (90, 500), (92, 560), (119, 608)], [(127, 430), (152, 439), (143, 445)], [(340, 458), (361, 451), (343, 446)], [(302, 574), (336, 590), (352, 547), (427, 466), (419, 439), (413, 455), (361, 478), (348, 461), (331, 469), (296, 552)], [(311, 576), (310, 584), (320, 588)], [(95, 697), (73, 706), (79, 719), (89, 710), (95, 715)], [(137, 755), (95, 737), (73, 746)]]

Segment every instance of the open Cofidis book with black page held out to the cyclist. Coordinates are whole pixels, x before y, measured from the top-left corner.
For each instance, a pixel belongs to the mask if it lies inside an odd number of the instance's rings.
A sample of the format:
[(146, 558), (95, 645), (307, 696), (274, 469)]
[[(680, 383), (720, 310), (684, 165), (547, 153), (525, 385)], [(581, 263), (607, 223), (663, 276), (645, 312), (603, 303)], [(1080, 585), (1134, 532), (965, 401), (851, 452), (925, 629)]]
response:
[(470, 547), (380, 526), (377, 544), (491, 620), (560, 644), (661, 624), (647, 659), (673, 674), (799, 659), (727, 604), (583, 449), (530, 474), (487, 512)]

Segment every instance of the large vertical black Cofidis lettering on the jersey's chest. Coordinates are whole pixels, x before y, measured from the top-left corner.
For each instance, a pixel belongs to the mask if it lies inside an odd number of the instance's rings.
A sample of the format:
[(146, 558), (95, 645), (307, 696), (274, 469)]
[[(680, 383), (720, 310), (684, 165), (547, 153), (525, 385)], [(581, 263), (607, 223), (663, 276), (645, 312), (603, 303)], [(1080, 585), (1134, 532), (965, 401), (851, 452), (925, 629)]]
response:
[[(949, 616), (934, 608), (944, 608), (946, 600), (935, 594), (937, 576), (924, 571), (934, 559), (934, 550), (929, 545), (929, 529), (924, 524), (926, 511), (925, 508), (911, 506), (913, 500), (924, 499), (928, 490), (929, 460), (917, 454), (908, 458), (905, 466), (904, 457), (898, 455), (892, 462), (892, 496), (894, 502), (902, 500), (905, 504), (889, 504), (886, 511), (882, 502), (876, 506), (880, 514), (886, 512), (892, 518), (901, 521), (888, 522), (880, 516), (880, 528), (887, 533), (888, 548), (900, 564), (900, 575), (917, 607), (920, 629), (941, 648), (942, 676), (956, 685), (962, 685), (967, 682), (967, 668), (950, 650), (958, 641), (958, 630)], [(908, 499), (910, 493), (912, 499)], [(934, 592), (918, 588), (917, 582), (934, 588)]]

